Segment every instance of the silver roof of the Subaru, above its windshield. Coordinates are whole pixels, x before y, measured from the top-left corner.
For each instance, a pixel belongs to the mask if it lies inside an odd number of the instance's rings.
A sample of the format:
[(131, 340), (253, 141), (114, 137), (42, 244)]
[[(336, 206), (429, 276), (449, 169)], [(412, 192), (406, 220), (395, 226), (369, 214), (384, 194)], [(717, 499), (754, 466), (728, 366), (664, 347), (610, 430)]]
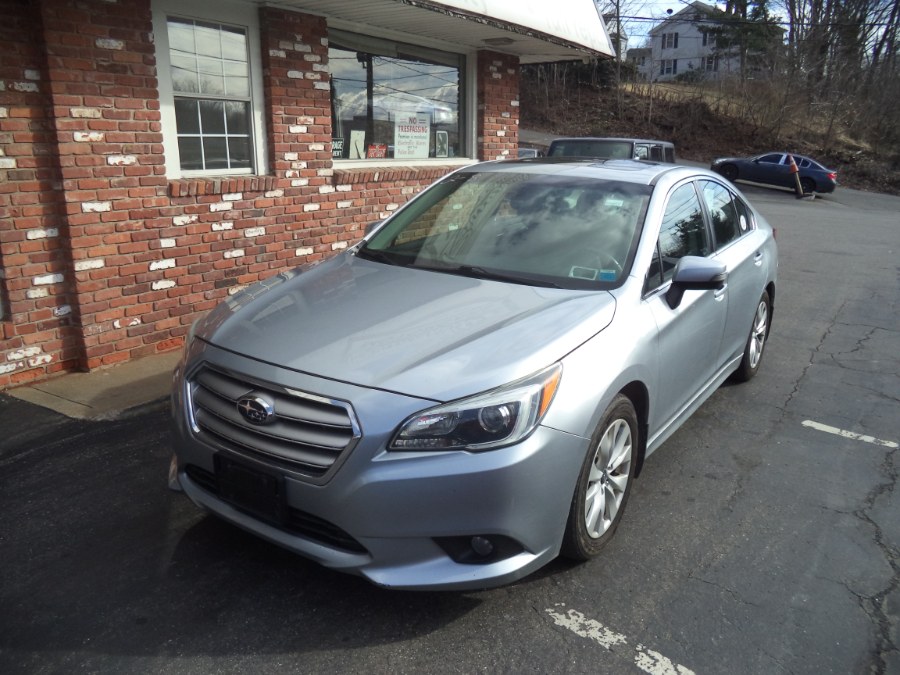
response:
[(718, 179), (712, 171), (678, 164), (650, 162), (635, 159), (575, 159), (571, 157), (538, 157), (505, 159), (472, 164), (460, 171), (532, 173), (571, 178), (616, 180), (627, 183), (655, 185), (660, 177), (670, 175), (671, 180), (689, 176), (709, 176)]

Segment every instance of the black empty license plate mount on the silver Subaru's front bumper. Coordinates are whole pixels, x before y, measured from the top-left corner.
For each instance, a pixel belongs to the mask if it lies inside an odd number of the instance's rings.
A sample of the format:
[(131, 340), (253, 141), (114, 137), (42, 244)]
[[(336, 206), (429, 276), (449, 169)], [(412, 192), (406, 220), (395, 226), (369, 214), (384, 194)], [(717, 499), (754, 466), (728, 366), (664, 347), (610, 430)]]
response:
[(281, 476), (260, 471), (229, 457), (216, 455), (219, 496), (229, 504), (258, 518), (280, 523), (284, 504)]

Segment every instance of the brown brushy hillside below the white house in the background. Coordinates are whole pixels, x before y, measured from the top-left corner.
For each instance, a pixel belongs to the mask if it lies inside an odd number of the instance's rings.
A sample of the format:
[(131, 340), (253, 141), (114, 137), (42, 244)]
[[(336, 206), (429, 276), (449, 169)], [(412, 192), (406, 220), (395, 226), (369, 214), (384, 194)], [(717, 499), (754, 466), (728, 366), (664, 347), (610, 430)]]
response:
[(520, 120), (524, 128), (557, 135), (670, 140), (679, 157), (704, 163), (785, 149), (836, 169), (843, 186), (900, 195), (900, 157), (879, 156), (864, 144), (840, 137), (826, 145), (815, 125), (786, 124), (773, 133), (740, 104), (723, 104), (721, 96), (711, 97), (696, 87), (626, 85), (620, 101), (612, 87), (571, 82), (550, 86), (525, 74)]

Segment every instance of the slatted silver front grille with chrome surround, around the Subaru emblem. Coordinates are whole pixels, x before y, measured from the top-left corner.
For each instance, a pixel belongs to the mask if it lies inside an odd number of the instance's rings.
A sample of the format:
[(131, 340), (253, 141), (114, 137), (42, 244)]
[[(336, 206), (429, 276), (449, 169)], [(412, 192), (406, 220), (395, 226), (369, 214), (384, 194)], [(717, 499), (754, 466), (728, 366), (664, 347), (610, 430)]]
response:
[[(194, 432), (218, 447), (274, 461), (313, 479), (321, 478), (359, 438), (349, 404), (204, 367), (190, 379)], [(249, 422), (237, 403), (264, 399), (274, 414)]]

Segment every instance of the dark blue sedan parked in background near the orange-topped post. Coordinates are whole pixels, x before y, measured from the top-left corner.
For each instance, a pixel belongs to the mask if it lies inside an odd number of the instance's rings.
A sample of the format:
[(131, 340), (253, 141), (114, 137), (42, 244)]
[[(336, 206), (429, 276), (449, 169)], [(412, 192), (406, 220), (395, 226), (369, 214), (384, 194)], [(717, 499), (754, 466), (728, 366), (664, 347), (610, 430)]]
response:
[(746, 180), (794, 189), (796, 182), (791, 172), (791, 157), (799, 169), (803, 192), (834, 192), (837, 171), (825, 168), (810, 157), (788, 152), (767, 152), (754, 157), (720, 157), (713, 160), (710, 168), (732, 182)]

